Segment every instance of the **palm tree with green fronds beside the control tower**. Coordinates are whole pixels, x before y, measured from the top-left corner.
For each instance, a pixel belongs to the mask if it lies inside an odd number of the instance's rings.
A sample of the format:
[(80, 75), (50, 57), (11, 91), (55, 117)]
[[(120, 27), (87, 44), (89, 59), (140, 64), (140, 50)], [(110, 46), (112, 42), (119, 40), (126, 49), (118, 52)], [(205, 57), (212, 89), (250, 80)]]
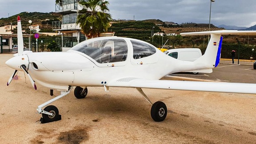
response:
[(101, 32), (107, 32), (109, 22), (112, 19), (109, 13), (108, 1), (102, 0), (81, 0), (79, 2), (84, 8), (79, 11), (77, 24), (88, 38), (98, 37)]

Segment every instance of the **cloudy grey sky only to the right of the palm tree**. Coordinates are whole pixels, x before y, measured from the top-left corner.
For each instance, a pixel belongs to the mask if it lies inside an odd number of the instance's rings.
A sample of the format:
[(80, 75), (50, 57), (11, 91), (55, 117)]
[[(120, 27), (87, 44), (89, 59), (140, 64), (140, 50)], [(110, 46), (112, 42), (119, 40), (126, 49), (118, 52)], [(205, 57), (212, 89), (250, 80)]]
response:
[[(108, 0), (114, 19), (160, 19), (176, 23), (209, 23), (210, 0)], [(248, 26), (256, 21), (255, 0), (212, 2), (211, 23)]]

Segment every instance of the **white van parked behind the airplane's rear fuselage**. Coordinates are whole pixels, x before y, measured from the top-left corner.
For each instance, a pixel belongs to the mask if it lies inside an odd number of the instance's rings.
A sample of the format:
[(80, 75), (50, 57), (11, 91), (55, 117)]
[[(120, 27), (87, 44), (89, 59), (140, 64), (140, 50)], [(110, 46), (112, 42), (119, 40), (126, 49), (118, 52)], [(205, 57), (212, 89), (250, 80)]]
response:
[[(186, 61), (195, 61), (200, 56), (202, 56), (202, 52), (199, 48), (176, 48), (176, 49), (169, 49), (164, 53), (178, 60), (186, 60)], [(198, 74), (198, 72), (192, 72), (192, 73)]]

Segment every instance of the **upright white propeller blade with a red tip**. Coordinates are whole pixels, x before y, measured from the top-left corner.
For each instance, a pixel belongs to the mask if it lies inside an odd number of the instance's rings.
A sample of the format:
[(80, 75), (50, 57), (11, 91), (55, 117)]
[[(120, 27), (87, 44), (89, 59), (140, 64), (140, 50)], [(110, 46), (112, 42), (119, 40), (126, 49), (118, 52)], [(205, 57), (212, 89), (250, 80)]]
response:
[(17, 17), (17, 38), (18, 38), (18, 55), (21, 56), (23, 55), (24, 44), (23, 44), (20, 16)]

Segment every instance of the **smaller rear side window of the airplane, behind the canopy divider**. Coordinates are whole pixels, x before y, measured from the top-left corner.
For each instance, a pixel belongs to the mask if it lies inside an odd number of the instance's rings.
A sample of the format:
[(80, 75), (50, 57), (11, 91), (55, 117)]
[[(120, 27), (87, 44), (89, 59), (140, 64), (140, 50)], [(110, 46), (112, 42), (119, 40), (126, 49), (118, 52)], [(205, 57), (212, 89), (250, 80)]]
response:
[(131, 40), (133, 47), (133, 58), (140, 59), (143, 57), (151, 56), (156, 53), (156, 49), (149, 44), (140, 43), (135, 40)]

